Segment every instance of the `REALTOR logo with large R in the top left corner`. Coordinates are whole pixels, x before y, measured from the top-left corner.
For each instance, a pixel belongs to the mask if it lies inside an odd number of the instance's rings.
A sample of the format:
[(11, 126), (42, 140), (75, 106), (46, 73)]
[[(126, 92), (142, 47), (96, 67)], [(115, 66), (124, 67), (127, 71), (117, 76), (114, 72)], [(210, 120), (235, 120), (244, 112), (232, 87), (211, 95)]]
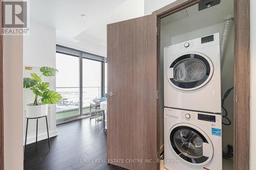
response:
[(28, 34), (28, 2), (2, 1), (2, 35)]

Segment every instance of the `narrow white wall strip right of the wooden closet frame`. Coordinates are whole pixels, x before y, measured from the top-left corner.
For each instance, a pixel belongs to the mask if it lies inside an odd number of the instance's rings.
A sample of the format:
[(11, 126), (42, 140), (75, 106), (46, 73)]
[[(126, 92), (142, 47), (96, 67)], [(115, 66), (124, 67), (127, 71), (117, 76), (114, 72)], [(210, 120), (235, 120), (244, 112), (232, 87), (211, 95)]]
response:
[(250, 169), (256, 169), (256, 1), (250, 1)]

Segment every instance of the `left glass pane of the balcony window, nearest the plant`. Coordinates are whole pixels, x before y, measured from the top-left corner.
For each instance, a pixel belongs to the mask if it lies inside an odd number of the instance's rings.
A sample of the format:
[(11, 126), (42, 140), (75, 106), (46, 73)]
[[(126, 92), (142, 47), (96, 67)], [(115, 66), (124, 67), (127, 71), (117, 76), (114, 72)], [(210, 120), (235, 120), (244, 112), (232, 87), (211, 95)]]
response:
[(80, 114), (79, 57), (56, 53), (56, 91), (62, 100), (56, 104), (56, 120)]

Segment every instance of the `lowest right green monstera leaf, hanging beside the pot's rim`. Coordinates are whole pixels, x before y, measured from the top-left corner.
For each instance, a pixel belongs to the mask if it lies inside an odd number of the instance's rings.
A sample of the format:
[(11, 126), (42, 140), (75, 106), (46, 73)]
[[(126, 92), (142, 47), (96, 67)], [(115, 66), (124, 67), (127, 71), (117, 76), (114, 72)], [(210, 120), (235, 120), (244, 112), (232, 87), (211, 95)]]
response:
[(42, 103), (45, 103), (45, 104), (56, 104), (61, 99), (62, 99), (62, 96), (58, 92), (48, 90), (42, 94), (41, 101), (42, 101)]

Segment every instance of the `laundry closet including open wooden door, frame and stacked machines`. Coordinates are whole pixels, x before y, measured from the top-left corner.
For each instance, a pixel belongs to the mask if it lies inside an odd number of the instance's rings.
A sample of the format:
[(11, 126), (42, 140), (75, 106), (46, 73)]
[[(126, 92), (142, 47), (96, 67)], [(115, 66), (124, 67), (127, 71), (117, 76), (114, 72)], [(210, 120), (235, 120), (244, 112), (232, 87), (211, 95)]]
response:
[[(248, 43), (238, 34), (248, 35), (247, 27), (236, 20), (245, 11), (238, 0), (178, 0), (108, 25), (108, 92), (115, 94), (108, 97), (109, 163), (127, 169), (244, 167), (238, 162), (248, 153), (237, 140), (246, 142), (248, 133), (233, 134), (248, 120), (239, 100), (247, 99), (239, 92), (246, 89), (242, 79), (248, 84), (242, 77), (247, 69), (238, 69), (244, 60), (236, 53), (238, 47), (246, 52), (242, 40)], [(245, 117), (234, 121), (238, 111)], [(241, 155), (233, 158), (233, 151)]]

